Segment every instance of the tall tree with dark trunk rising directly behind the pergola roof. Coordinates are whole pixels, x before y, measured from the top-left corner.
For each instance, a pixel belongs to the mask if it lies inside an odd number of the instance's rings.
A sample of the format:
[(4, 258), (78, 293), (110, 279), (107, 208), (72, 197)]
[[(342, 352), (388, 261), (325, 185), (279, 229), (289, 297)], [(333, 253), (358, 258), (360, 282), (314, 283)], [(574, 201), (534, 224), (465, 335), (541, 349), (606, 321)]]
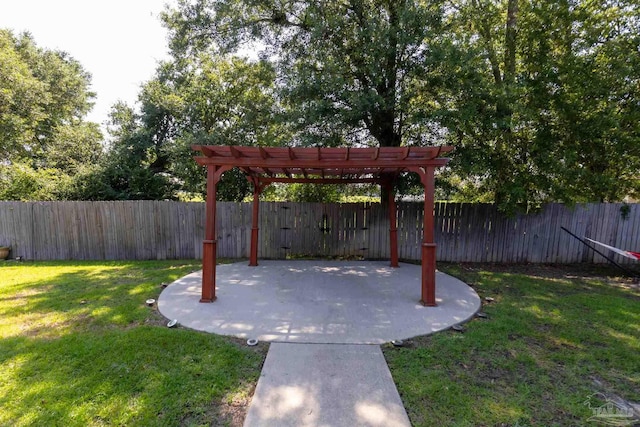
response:
[(420, 144), (415, 79), (438, 47), (441, 2), (182, 0), (165, 14), (177, 56), (260, 46), (298, 144)]

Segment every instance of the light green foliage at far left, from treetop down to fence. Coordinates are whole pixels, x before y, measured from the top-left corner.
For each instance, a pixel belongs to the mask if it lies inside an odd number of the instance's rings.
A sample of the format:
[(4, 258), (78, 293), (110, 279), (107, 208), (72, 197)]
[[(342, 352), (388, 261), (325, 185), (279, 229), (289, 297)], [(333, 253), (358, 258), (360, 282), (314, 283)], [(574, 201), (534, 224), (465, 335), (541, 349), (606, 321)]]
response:
[(0, 29), (0, 199), (66, 198), (74, 176), (97, 162), (102, 135), (83, 120), (90, 79), (66, 53)]

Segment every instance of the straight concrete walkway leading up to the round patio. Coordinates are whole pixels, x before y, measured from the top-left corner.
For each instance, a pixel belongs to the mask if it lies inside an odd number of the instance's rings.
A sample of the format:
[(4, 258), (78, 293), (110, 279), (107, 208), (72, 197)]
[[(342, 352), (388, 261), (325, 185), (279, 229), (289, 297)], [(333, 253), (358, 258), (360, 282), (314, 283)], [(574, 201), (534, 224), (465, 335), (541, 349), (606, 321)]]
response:
[(377, 345), (272, 343), (245, 427), (410, 426)]

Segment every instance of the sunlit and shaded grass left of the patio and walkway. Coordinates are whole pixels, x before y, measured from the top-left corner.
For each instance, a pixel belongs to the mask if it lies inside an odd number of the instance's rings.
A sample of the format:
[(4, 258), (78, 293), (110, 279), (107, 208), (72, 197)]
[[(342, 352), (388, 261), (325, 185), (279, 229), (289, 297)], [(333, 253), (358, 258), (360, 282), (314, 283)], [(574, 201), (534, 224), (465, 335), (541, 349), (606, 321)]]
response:
[(194, 261), (0, 264), (0, 425), (238, 425), (266, 346), (168, 329)]

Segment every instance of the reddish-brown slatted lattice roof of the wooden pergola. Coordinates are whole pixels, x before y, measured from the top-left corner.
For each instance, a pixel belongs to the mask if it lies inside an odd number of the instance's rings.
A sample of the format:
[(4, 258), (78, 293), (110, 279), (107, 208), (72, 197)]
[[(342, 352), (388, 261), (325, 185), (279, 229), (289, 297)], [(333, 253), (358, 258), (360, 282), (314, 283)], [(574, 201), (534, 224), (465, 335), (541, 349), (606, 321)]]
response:
[(444, 166), (441, 147), (313, 148), (194, 145), (203, 165), (236, 166), (261, 182), (372, 182), (415, 167)]

